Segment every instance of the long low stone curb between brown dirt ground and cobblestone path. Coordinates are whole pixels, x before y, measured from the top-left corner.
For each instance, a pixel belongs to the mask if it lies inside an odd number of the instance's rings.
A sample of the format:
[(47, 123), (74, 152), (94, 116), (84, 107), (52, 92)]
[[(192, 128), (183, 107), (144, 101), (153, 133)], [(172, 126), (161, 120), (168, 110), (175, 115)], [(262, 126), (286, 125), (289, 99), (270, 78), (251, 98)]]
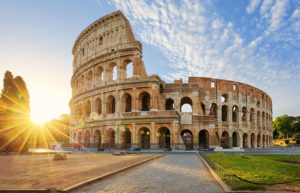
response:
[(143, 163), (146, 163), (146, 162), (148, 162), (148, 161), (151, 161), (151, 160), (154, 160), (154, 159), (163, 157), (163, 156), (165, 156), (165, 155), (158, 155), (158, 156), (156, 156), (156, 157), (153, 157), (153, 158), (150, 158), (150, 159), (147, 159), (147, 160), (143, 160), (143, 161), (140, 161), (140, 162), (138, 162), (138, 163), (131, 164), (131, 165), (129, 165), (129, 166), (126, 166), (126, 167), (123, 167), (123, 168), (121, 168), (121, 169), (118, 169), (118, 170), (109, 172), (109, 173), (107, 173), (107, 174), (104, 174), (104, 175), (101, 175), (101, 176), (98, 176), (98, 177), (95, 177), (95, 178), (92, 178), (92, 179), (89, 179), (89, 180), (85, 180), (85, 181), (80, 182), (80, 183), (78, 183), (78, 184), (72, 185), (72, 186), (70, 186), (70, 187), (68, 187), (68, 188), (65, 188), (65, 189), (63, 189), (63, 190), (60, 190), (59, 192), (69, 192), (69, 191), (75, 190), (75, 189), (77, 189), (77, 188), (80, 188), (80, 187), (86, 186), (86, 185), (88, 185), (88, 184), (91, 184), (91, 183), (93, 183), (93, 182), (95, 182), (95, 181), (102, 180), (102, 179), (104, 179), (104, 178), (106, 178), (106, 177), (112, 176), (112, 175), (117, 174), (117, 173), (119, 173), (119, 172), (128, 170), (128, 169), (130, 169), (130, 168), (133, 168), (133, 167), (135, 167), (135, 166), (141, 165), (141, 164), (143, 164)]

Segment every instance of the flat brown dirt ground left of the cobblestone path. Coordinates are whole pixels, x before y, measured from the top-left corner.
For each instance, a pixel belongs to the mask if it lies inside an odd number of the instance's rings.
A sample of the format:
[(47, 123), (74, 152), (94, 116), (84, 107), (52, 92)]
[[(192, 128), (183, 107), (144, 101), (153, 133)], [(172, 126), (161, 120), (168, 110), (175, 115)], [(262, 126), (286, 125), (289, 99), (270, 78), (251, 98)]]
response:
[(53, 154), (0, 156), (0, 189), (64, 189), (156, 156), (69, 154), (59, 161)]

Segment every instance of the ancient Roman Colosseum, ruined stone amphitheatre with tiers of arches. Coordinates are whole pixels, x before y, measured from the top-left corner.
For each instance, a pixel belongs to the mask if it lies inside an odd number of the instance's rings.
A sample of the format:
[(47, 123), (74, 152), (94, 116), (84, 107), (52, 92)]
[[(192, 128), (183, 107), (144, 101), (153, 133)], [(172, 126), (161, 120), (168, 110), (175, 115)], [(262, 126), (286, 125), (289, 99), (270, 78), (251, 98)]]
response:
[(248, 84), (188, 77), (163, 81), (148, 75), (128, 19), (106, 15), (77, 37), (70, 143), (104, 150), (268, 148), (272, 100)]

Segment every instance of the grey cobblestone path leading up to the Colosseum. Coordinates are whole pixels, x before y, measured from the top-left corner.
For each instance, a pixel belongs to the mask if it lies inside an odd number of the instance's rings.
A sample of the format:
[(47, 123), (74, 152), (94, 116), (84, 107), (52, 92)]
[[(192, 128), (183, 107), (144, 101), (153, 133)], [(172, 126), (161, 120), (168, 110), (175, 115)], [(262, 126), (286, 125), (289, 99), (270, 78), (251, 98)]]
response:
[(74, 192), (223, 192), (195, 154), (169, 154)]

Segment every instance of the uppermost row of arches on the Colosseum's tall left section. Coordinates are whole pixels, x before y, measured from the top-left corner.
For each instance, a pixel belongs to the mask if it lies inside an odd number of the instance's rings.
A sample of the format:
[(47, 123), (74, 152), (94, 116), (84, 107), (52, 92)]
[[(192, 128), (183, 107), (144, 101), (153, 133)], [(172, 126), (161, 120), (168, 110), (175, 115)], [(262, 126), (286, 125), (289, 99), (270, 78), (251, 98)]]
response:
[(136, 75), (134, 73), (134, 63), (130, 59), (126, 59), (119, 66), (115, 62), (112, 62), (105, 66), (90, 69), (86, 74), (81, 74), (75, 80), (73, 90), (74, 92), (80, 92), (92, 88), (97, 84), (118, 79), (123, 80), (131, 78), (134, 75)]

